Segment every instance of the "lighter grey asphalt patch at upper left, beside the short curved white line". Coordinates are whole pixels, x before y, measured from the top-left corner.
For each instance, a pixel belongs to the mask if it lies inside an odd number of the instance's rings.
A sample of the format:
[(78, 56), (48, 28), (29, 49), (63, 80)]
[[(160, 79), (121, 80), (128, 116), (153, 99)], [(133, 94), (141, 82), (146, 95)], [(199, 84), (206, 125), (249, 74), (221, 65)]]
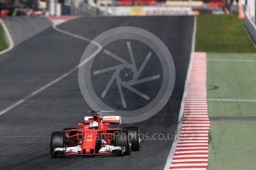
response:
[(15, 46), (51, 27), (51, 22), (41, 17), (7, 17), (3, 21)]

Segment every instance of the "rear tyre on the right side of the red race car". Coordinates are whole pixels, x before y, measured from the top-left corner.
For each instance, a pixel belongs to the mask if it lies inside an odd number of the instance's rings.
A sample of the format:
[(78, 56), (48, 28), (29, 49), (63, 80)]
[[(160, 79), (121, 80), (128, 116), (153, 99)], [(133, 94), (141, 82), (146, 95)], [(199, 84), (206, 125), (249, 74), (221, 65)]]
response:
[(140, 151), (140, 129), (136, 126), (125, 127), (131, 140), (131, 151)]

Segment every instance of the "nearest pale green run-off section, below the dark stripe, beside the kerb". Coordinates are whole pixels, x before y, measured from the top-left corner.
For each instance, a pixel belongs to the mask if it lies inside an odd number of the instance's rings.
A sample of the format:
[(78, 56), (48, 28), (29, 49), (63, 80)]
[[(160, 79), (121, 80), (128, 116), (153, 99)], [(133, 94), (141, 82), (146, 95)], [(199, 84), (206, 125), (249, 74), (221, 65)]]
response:
[(255, 169), (255, 129), (255, 121), (212, 121), (208, 170)]

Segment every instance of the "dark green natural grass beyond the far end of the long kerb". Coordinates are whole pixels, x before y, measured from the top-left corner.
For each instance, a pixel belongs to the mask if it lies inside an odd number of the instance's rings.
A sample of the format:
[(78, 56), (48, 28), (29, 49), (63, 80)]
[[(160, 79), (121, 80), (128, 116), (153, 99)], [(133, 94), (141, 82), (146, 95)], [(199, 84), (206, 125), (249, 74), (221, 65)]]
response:
[(196, 51), (256, 52), (237, 15), (204, 14), (197, 18)]

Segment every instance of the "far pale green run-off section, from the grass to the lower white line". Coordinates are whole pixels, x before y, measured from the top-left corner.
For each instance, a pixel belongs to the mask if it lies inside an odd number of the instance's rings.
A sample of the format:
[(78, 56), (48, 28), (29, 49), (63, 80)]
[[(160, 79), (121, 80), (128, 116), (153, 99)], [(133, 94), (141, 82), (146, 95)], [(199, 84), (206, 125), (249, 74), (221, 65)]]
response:
[(256, 54), (208, 53), (208, 59), (251, 59), (255, 62), (209, 61), (209, 98), (256, 99)]

